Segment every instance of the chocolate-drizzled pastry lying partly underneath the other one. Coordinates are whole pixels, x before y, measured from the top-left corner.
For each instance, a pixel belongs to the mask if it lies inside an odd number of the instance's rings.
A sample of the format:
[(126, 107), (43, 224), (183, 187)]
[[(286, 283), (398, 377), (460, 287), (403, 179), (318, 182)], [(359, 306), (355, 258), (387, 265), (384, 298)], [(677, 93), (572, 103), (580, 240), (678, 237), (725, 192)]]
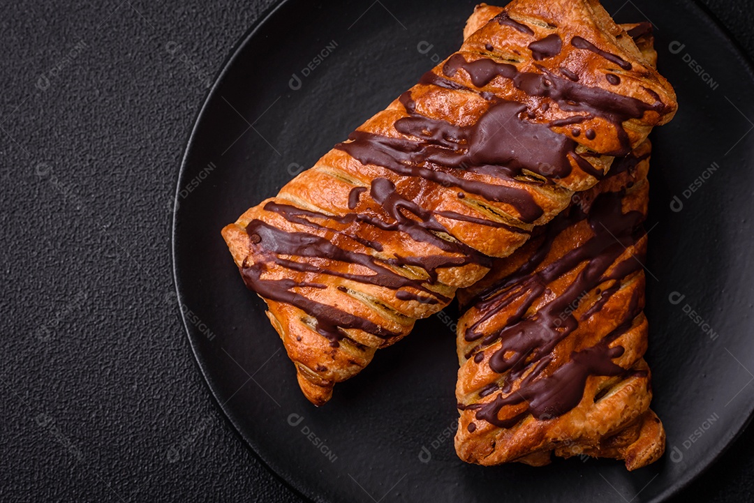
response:
[[(499, 11), (480, 6), (467, 27)], [(651, 30), (624, 28), (654, 63)], [(650, 153), (646, 141), (616, 160), (608, 178), (458, 292), (464, 461), (538, 466), (554, 453), (624, 459), (633, 470), (664, 453), (643, 359)]]

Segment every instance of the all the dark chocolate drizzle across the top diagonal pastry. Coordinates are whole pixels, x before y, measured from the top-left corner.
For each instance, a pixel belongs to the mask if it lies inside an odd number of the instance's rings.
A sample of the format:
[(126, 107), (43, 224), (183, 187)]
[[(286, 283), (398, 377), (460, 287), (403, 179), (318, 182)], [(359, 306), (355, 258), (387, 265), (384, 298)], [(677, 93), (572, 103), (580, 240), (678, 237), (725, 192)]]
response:
[[(506, 13), (500, 14), (495, 20), (523, 34), (534, 35), (529, 26), (510, 19)], [(490, 44), (486, 48), (489, 51), (493, 49)], [(556, 56), (562, 50), (562, 40), (558, 35), (549, 35), (533, 41), (529, 48), (535, 59), (546, 59)], [(453, 79), (460, 69), (468, 73), (476, 90)], [(642, 117), (645, 111), (664, 107), (656, 93), (653, 93), (656, 98), (654, 105), (646, 105), (628, 96), (581, 86), (577, 84), (578, 75), (566, 69), (561, 69), (566, 78), (552, 75), (541, 67), (538, 69), (541, 73), (519, 72), (513, 65), (484, 58), (467, 62), (457, 53), (446, 62), (443, 75), (428, 72), (420, 83), (476, 93), (486, 100), (488, 108), (477, 123), (459, 127), (443, 120), (424, 117), (417, 111), (412, 93), (407, 91), (400, 96), (399, 102), (406, 109), (408, 117), (394, 123), (395, 130), (402, 136), (388, 138), (356, 131), (349, 136), (348, 142), (336, 145), (336, 148), (347, 152), (364, 165), (380, 166), (399, 176), (423, 178), (428, 184), (455, 187), (462, 191), (458, 193), (459, 199), (481, 197), (507, 204), (513, 212), (517, 212), (521, 221), (532, 224), (544, 214), (544, 210), (536, 203), (532, 191), (525, 190), (523, 185), (551, 183), (559, 178), (566, 178), (573, 166), (578, 166), (597, 178), (602, 177), (602, 173), (587, 159), (576, 154), (576, 142), (554, 133), (551, 127), (565, 127), (593, 117), (605, 117), (618, 125), (618, 134), (624, 143), (621, 152), (617, 152), (621, 154), (629, 148), (621, 123), (630, 118)], [(497, 76), (510, 79), (529, 96), (552, 99), (562, 110), (578, 114), (549, 124), (527, 120), (527, 117), (536, 118), (535, 108), (499, 99), (495, 93), (479, 89)], [(541, 111), (547, 111), (549, 107), (550, 103), (547, 101), (538, 103)], [(505, 127), (501, 127), (501, 124)], [(578, 134), (574, 133), (574, 136)], [(467, 179), (463, 178), (464, 172), (480, 176)], [(544, 181), (532, 174), (544, 178)], [(334, 346), (337, 346), (338, 340), (346, 337), (342, 329), (359, 329), (378, 337), (396, 337), (400, 334), (332, 306), (317, 303), (296, 291), (296, 288), (312, 288), (317, 291), (327, 288), (326, 285), (296, 283), (290, 279), (262, 279), (266, 271), (274, 267), (285, 267), (299, 273), (337, 276), (393, 289), (399, 300), (428, 304), (448, 303), (448, 297), (429, 288), (437, 282), (437, 270), (467, 264), (492, 266), (490, 258), (473, 248), (440, 237), (446, 233), (452, 235), (446, 227), (448, 221), (504, 228), (513, 233), (527, 232), (507, 223), (458, 212), (424, 209), (400, 194), (400, 189), (388, 178), (375, 178), (368, 191), (369, 197), (366, 197), (366, 187), (351, 189), (348, 194), (348, 209), (351, 212), (339, 216), (285, 204), (268, 203), (265, 206), (267, 211), (275, 212), (295, 224), (296, 231), (280, 230), (257, 220), (250, 222), (247, 227), (254, 262), (244, 264), (241, 272), (249, 288), (268, 300), (290, 303), (302, 309), (316, 321), (317, 332), (327, 337)], [(359, 212), (356, 211), (357, 208), (360, 208)], [(354, 228), (364, 232), (354, 232)], [(383, 245), (367, 238), (370, 228), (403, 233), (415, 242), (426, 242), (439, 248), (445, 255), (375, 258), (377, 253), (382, 252)], [(363, 251), (349, 251), (349, 242), (357, 243), (360, 246), (354, 245), (353, 248)], [(321, 260), (300, 262), (297, 258)], [(329, 263), (356, 265), (368, 273), (341, 272), (338, 269), (343, 268), (328, 268), (326, 264)], [(406, 266), (423, 268), (429, 278), (408, 279), (396, 272)], [(351, 267), (345, 269), (352, 270)], [(339, 287), (339, 290), (345, 293), (349, 291), (345, 287)], [(483, 357), (480, 352), (475, 359)], [(495, 361), (499, 359), (496, 357)]]

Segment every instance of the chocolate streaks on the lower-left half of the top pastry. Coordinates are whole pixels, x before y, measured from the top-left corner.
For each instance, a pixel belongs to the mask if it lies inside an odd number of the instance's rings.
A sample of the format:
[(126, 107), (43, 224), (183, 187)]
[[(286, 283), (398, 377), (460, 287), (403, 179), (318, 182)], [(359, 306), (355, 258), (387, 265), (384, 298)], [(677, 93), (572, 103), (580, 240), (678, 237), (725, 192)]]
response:
[[(262, 279), (262, 273), (268, 269), (268, 266), (277, 265), (301, 273), (325, 273), (329, 276), (337, 276), (354, 282), (391, 288), (397, 290), (397, 298), (401, 300), (417, 300), (420, 303), (448, 303), (450, 301), (449, 297), (431, 291), (425, 285), (425, 281), (406, 278), (394, 272), (388, 266), (402, 267), (413, 265), (424, 267), (431, 276), (428, 282), (434, 282), (437, 279), (437, 270), (443, 267), (460, 267), (470, 263), (484, 264), (488, 267), (490, 265), (490, 259), (476, 250), (461, 243), (449, 242), (438, 237), (434, 232), (444, 231), (444, 227), (437, 222), (434, 214), (400, 197), (400, 194), (397, 194), (397, 191), (395, 191), (394, 184), (386, 178), (375, 178), (372, 181), (370, 195), (393, 218), (394, 221), (392, 223), (386, 223), (375, 216), (357, 213), (350, 213), (342, 217), (333, 217), (332, 215), (325, 215), (323, 213), (299, 209), (296, 206), (278, 203), (267, 203), (265, 210), (276, 212), (292, 223), (311, 227), (313, 230), (326, 230), (327, 232), (339, 234), (346, 239), (353, 239), (377, 251), (382, 249), (382, 245), (379, 243), (361, 239), (355, 233), (344, 233), (333, 227), (325, 227), (323, 223), (328, 221), (333, 221), (336, 224), (358, 223), (366, 227), (372, 226), (382, 230), (401, 231), (412, 239), (429, 242), (453, 255), (430, 256), (423, 258), (421, 261), (417, 258), (397, 257), (385, 260), (384, 264), (382, 264), (372, 255), (350, 252), (344, 248), (340, 248), (329, 239), (325, 239), (314, 233), (280, 230), (259, 220), (251, 221), (247, 226), (247, 233), (250, 236), (250, 242), (253, 247), (253, 256), (256, 259), (254, 264), (244, 264), (244, 267), (241, 267), (241, 273), (247, 286), (269, 300), (290, 303), (302, 309), (313, 319), (317, 320), (317, 332), (327, 337), (333, 345), (337, 345), (337, 341), (344, 337), (337, 327), (359, 328), (378, 337), (397, 337), (399, 334), (387, 331), (385, 328), (369, 322), (369, 320), (361, 319), (358, 316), (350, 315), (331, 306), (317, 303), (293, 291), (294, 288), (326, 288), (325, 285), (315, 286), (309, 283), (297, 283), (291, 279)], [(419, 220), (407, 218), (403, 215), (402, 210), (412, 212)], [(464, 215), (458, 216), (460, 218)], [(366, 267), (372, 273), (344, 273), (334, 268), (326, 269), (309, 262), (299, 262), (293, 259), (281, 258), (281, 256), (320, 258), (331, 262), (357, 264)], [(401, 288), (413, 289), (420, 293), (400, 290)]]

